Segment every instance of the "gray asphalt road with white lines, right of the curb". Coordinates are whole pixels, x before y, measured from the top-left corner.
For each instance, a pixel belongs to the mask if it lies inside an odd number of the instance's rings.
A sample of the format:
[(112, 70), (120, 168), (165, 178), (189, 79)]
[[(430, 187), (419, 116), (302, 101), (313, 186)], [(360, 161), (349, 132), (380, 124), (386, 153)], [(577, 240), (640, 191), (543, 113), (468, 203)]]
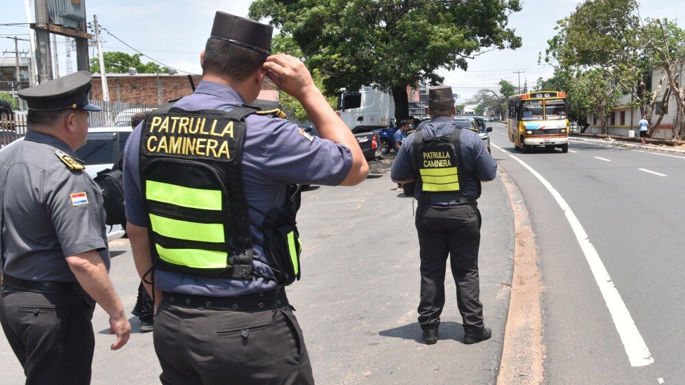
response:
[(493, 146), (536, 235), (547, 382), (682, 383), (685, 157), (582, 142), (523, 155), (494, 127), (493, 144), (553, 188)]

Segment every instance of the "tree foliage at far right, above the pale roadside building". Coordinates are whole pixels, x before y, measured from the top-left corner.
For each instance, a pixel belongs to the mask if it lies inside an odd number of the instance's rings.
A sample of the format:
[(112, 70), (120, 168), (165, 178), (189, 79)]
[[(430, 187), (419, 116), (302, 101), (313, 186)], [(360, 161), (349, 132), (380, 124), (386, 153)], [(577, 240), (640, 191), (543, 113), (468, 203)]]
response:
[[(577, 87), (575, 82), (593, 83), (596, 97), (590, 105), (600, 108), (593, 111), (603, 115), (601, 107), (607, 99), (612, 100), (615, 92), (631, 94), (632, 105), (651, 121), (654, 112), (658, 114), (655, 129), (661, 122), (664, 111), (654, 111), (656, 102), (668, 103), (677, 83), (671, 82), (667, 67), (673, 59), (684, 57), (685, 31), (667, 19), (643, 19), (639, 15), (638, 0), (588, 0), (577, 5), (570, 16), (557, 22), (556, 36), (548, 40), (545, 51), (546, 62), (556, 66), (556, 81), (553, 85), (570, 92)], [(678, 52), (681, 52), (680, 54)], [(664, 61), (664, 58), (669, 58)], [(540, 55), (543, 58), (543, 55)], [(669, 62), (670, 64), (667, 64)], [(656, 89), (647, 88), (651, 70), (663, 68), (664, 75)], [(675, 73), (675, 72), (674, 72)], [(604, 79), (611, 83), (599, 92), (595, 81)], [(565, 82), (565, 83), (564, 83)], [(658, 97), (663, 91), (662, 97)], [(571, 97), (571, 95), (569, 95)], [(580, 103), (580, 105), (584, 105)], [(606, 119), (603, 119), (606, 127)]]

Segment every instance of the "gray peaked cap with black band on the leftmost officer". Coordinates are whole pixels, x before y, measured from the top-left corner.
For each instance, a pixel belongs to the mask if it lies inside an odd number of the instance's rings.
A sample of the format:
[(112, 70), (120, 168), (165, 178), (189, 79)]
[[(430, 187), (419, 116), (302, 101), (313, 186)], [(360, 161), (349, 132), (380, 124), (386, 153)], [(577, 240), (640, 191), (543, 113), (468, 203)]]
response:
[(92, 76), (88, 71), (79, 71), (58, 79), (46, 81), (18, 92), (20, 98), (34, 111), (55, 111), (58, 109), (85, 109), (102, 111), (88, 103), (88, 91)]

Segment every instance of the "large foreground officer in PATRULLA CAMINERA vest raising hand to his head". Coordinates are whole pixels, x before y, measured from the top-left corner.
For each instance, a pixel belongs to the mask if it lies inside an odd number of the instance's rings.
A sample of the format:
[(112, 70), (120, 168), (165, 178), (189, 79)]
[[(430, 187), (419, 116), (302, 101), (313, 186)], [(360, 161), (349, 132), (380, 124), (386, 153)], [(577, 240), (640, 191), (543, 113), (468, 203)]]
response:
[[(127, 232), (161, 299), (153, 336), (164, 384), (314, 382), (284, 289), (306, 271), (293, 185), (357, 185), (369, 168), (304, 64), (270, 56), (272, 31), (216, 12), (195, 92), (153, 111), (127, 142)], [(321, 137), (250, 106), (265, 76)]]

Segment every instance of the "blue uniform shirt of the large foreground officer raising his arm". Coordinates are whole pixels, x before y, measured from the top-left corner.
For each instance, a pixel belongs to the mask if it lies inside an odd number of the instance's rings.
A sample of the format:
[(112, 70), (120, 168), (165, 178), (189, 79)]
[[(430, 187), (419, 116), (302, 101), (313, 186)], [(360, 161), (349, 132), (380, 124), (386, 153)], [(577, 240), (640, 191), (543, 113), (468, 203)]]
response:
[[(231, 111), (245, 103), (240, 94), (219, 83), (201, 81), (197, 90), (174, 107), (188, 111), (216, 109)], [(142, 125), (142, 124), (141, 124)], [(148, 227), (140, 189), (138, 156), (139, 125), (124, 152), (124, 194), (126, 218), (136, 226)], [(271, 209), (286, 201), (286, 185), (291, 183), (339, 185), (352, 167), (352, 154), (346, 146), (301, 132), (297, 124), (273, 116), (247, 117), (247, 133), (242, 155), (242, 179), (249, 207), (256, 271), (271, 274), (262, 250), (264, 238), (257, 226)], [(228, 280), (157, 271), (155, 285), (169, 293), (232, 297), (276, 289), (263, 278)]]

